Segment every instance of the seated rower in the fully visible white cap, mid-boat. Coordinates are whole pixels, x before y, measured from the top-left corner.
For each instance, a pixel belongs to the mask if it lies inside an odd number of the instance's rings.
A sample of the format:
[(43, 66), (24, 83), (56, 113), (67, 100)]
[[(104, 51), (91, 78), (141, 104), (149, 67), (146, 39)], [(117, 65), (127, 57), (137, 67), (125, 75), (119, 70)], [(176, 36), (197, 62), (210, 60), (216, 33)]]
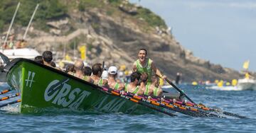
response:
[(117, 83), (117, 67), (111, 66), (108, 69), (107, 82), (110, 88), (121, 91), (124, 88), (124, 83)]

